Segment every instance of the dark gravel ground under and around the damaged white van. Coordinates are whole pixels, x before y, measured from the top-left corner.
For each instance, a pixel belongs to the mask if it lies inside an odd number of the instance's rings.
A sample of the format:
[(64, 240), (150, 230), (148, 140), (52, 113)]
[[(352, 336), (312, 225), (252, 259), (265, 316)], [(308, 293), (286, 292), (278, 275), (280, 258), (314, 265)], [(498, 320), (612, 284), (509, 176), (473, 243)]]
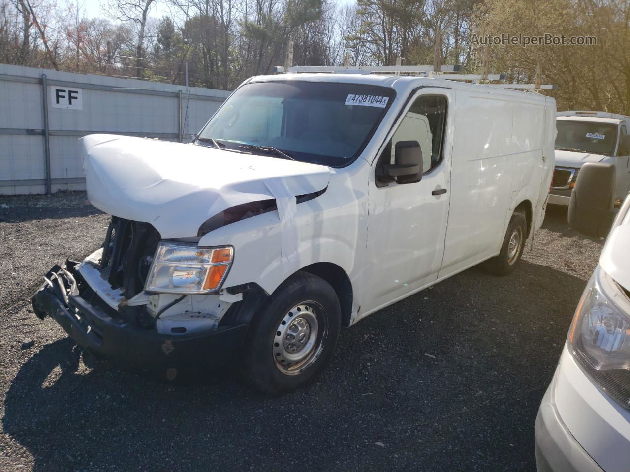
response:
[[(602, 245), (552, 209), (518, 270), (477, 268), (341, 333), (283, 398), (173, 387), (81, 352), (30, 297), (108, 216), (84, 194), (0, 198), (0, 470), (534, 471), (534, 419)], [(32, 344), (32, 346), (31, 346)]]

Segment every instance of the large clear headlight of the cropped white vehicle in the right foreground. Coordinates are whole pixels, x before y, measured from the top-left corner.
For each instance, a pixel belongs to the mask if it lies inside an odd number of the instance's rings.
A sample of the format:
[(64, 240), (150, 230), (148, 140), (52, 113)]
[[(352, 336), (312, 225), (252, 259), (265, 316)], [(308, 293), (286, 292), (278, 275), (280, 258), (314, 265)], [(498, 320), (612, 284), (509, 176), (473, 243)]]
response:
[(575, 310), (567, 342), (593, 381), (630, 408), (630, 300), (599, 266)]

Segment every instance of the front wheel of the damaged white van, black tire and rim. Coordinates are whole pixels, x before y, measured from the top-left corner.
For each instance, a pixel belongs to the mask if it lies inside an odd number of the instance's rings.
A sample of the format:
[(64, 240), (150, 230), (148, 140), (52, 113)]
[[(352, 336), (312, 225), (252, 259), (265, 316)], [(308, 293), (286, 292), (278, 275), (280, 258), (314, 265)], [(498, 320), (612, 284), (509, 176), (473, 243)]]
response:
[[(294, 274), (249, 324), (241, 368), (243, 380), (268, 395), (311, 383), (330, 361), (340, 329), (341, 308), (330, 284), (309, 273)], [(306, 340), (293, 335), (293, 344), (289, 341), (292, 333)], [(298, 362), (292, 356), (306, 357)]]

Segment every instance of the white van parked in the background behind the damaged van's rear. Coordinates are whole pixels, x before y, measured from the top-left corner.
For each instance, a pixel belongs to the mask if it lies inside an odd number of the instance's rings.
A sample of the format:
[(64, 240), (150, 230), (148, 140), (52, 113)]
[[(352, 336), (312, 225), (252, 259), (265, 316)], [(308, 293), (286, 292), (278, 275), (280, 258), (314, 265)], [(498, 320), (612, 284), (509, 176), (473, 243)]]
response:
[(569, 205), (581, 166), (604, 162), (616, 169), (615, 205), (621, 205), (630, 189), (630, 116), (580, 110), (556, 116), (556, 169), (549, 203)]

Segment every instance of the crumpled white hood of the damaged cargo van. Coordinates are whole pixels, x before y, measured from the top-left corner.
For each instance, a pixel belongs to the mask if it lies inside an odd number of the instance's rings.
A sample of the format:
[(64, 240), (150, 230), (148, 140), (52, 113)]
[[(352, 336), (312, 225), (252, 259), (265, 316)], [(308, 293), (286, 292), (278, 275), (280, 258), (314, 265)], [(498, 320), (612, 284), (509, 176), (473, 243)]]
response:
[(195, 237), (235, 205), (318, 192), (330, 177), (326, 166), (193, 144), (106, 134), (81, 142), (92, 205), (151, 223), (165, 239)]

